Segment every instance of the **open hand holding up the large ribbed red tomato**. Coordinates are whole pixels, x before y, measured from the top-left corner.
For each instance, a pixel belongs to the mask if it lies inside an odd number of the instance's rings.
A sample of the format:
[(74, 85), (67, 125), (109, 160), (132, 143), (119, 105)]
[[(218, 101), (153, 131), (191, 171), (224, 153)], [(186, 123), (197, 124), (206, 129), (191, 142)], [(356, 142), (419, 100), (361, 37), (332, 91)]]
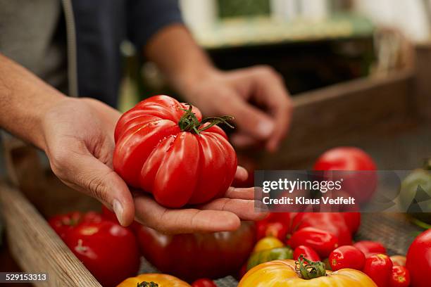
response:
[[(189, 209), (169, 210), (142, 191), (130, 190), (112, 169), (113, 131), (120, 113), (89, 98), (64, 98), (44, 115), (44, 149), (54, 173), (68, 186), (104, 203), (123, 225), (133, 219), (169, 233), (230, 231), (240, 219), (256, 220), (254, 189), (230, 188), (225, 198)], [(239, 167), (237, 179), (245, 180)]]

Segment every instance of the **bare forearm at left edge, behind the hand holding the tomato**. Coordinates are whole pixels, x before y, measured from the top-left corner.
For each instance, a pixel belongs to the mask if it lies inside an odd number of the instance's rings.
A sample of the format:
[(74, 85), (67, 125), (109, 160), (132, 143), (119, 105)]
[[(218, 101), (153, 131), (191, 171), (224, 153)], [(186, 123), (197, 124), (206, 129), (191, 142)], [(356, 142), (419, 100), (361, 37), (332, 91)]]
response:
[(0, 128), (43, 149), (42, 117), (64, 98), (42, 79), (0, 53)]

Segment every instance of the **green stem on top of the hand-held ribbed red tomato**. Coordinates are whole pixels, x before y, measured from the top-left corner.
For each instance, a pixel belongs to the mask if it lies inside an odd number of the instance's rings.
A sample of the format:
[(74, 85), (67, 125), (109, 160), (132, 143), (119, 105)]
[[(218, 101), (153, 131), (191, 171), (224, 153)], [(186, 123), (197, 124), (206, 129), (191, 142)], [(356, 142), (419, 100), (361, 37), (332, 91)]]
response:
[[(195, 132), (196, 134), (199, 134), (200, 132), (204, 132), (204, 130), (218, 124), (225, 124), (231, 129), (234, 128), (229, 122), (227, 122), (228, 120), (233, 120), (234, 118), (230, 115), (225, 115), (223, 117), (207, 117), (206, 119), (199, 122), (196, 115), (194, 115), (192, 112), (192, 105), (189, 105), (188, 103), (187, 105), (189, 106), (189, 109), (182, 109), (185, 111), (185, 113), (180, 118), (180, 121), (178, 121), (178, 126), (183, 132)], [(207, 123), (209, 123), (209, 125), (206, 125)]]

